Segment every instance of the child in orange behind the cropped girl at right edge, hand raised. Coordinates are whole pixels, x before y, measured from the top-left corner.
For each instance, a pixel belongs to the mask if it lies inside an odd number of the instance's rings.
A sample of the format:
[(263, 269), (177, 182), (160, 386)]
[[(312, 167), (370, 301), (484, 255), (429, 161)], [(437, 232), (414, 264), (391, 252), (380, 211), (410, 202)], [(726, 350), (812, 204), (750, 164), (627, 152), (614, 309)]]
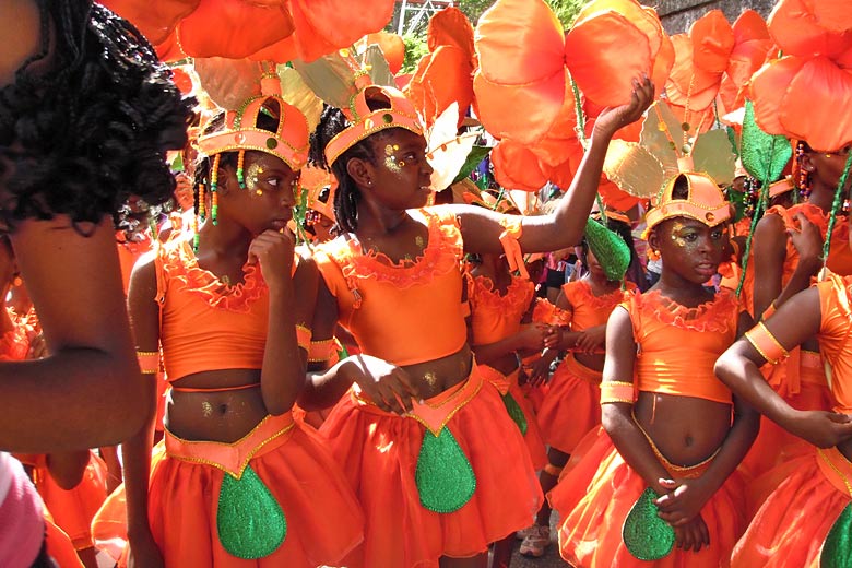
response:
[[(795, 159), (802, 184), (809, 188), (807, 202), (784, 208), (774, 205), (758, 222), (754, 236), (755, 319), (765, 319), (784, 301), (810, 285), (823, 265), (819, 240), (826, 238), (828, 212), (835, 188), (842, 173), (847, 152), (815, 152), (804, 142), (796, 149)], [(832, 232), (828, 267), (839, 274), (852, 273), (848, 261), (848, 220), (839, 220)], [(819, 238), (805, 239), (807, 234)], [(801, 250), (800, 250), (801, 249)], [(792, 406), (798, 410), (827, 411), (833, 405), (816, 340), (803, 342), (779, 365), (764, 369), (766, 379)], [(744, 466), (757, 477), (774, 465), (807, 452), (807, 446), (795, 436), (761, 419), (760, 435), (746, 457)], [(760, 480), (754, 487), (754, 507), (760, 505), (771, 480)]]

